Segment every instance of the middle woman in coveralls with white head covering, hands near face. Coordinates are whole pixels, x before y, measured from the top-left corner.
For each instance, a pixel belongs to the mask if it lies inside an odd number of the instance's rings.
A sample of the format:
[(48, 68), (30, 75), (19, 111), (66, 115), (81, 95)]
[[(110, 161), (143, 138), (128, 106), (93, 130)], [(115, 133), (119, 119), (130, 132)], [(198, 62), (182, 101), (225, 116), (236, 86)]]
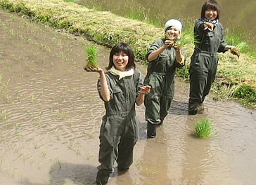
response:
[(152, 87), (144, 101), (148, 138), (155, 137), (156, 126), (161, 125), (168, 114), (174, 97), (175, 69), (185, 65), (184, 49), (174, 44), (179, 39), (181, 29), (179, 20), (168, 20), (165, 23), (165, 39), (154, 41), (146, 54), (148, 72), (144, 85)]

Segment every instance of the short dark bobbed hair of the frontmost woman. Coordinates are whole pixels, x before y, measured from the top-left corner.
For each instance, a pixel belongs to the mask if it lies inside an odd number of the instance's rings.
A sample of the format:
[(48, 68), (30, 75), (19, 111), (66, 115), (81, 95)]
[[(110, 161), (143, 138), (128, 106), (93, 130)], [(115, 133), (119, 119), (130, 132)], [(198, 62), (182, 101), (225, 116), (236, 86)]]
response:
[(111, 69), (111, 67), (113, 67), (114, 65), (113, 56), (116, 53), (120, 53), (120, 51), (124, 52), (129, 57), (128, 64), (125, 67), (125, 69), (126, 70), (135, 69), (136, 65), (134, 62), (134, 59), (135, 59), (134, 52), (132, 51), (131, 46), (129, 46), (127, 43), (117, 43), (115, 46), (113, 46), (113, 48), (110, 51), (109, 64), (108, 64), (108, 67), (106, 67), (106, 69), (109, 70)]

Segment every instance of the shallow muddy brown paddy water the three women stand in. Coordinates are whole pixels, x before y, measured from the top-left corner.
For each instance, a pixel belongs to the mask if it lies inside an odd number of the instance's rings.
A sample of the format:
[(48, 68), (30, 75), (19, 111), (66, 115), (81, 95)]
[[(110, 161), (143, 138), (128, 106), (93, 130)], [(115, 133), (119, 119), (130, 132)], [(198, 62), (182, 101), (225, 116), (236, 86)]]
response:
[[(82, 69), (84, 46), (94, 43), (3, 11), (0, 19), (0, 184), (94, 184), (104, 108), (98, 74)], [(98, 46), (102, 67), (108, 55)], [(155, 139), (146, 139), (145, 110), (136, 107), (134, 164), (109, 184), (255, 184), (254, 111), (209, 96), (203, 114), (188, 116), (187, 102), (188, 84), (177, 79)], [(193, 136), (201, 118), (214, 123), (215, 135)]]

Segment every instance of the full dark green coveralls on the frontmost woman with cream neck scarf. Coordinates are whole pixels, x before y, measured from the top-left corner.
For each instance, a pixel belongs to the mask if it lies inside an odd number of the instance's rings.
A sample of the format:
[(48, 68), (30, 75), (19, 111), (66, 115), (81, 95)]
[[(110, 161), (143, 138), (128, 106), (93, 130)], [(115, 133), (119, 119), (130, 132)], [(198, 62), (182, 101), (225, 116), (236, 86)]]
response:
[[(118, 79), (109, 71), (105, 77), (110, 90), (110, 101), (105, 103), (105, 115), (100, 130), (100, 149), (96, 183), (106, 184), (113, 172), (114, 162), (118, 170), (128, 170), (133, 163), (134, 145), (138, 140), (138, 120), (135, 101), (143, 81), (141, 72), (134, 69), (134, 75)], [(98, 93), (101, 97), (101, 83), (98, 80)], [(103, 100), (103, 98), (101, 97)], [(100, 183), (101, 182), (101, 183)]]

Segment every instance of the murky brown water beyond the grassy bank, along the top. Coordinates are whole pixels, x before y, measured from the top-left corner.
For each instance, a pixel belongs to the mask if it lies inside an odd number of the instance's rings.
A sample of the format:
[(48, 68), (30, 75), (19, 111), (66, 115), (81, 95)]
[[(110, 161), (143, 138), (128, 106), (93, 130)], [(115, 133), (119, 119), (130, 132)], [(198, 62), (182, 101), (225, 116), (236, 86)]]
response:
[[(177, 1), (146, 1), (146, 0), (132, 0), (127, 1), (104, 1), (104, 0), (93, 0), (85, 1), (78, 0), (78, 4), (84, 6), (101, 5), (104, 11), (115, 11), (115, 13), (122, 15), (125, 8), (134, 8), (143, 10), (144, 13), (148, 13), (150, 18), (158, 18), (158, 21), (164, 25), (166, 20), (169, 18), (177, 18), (184, 20), (186, 18), (200, 17), (200, 11), (205, 0), (180, 0), (179, 6)], [(221, 6), (220, 22), (224, 25), (224, 28), (236, 29), (238, 27), (241, 30), (250, 33), (250, 39), (255, 40), (256, 35), (256, 24), (255, 24), (255, 0), (218, 0)], [(175, 5), (174, 5), (175, 4)], [(115, 8), (113, 8), (115, 7)], [(243, 8), (241, 8), (243, 7)], [(136, 14), (136, 11), (134, 12)], [(246, 22), (246, 23), (245, 23)]]

